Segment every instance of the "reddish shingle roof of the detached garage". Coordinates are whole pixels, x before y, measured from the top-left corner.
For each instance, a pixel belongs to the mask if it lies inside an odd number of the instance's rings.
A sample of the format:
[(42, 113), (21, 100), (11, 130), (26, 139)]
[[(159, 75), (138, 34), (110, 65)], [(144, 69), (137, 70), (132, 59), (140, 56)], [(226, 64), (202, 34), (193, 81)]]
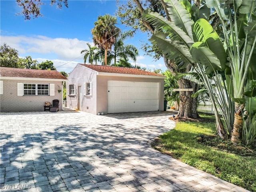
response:
[(153, 72), (144, 71), (136, 68), (126, 68), (126, 67), (116, 67), (116, 66), (104, 66), (104, 65), (90, 65), (90, 64), (80, 64), (87, 68), (90, 68), (97, 72), (104, 73), (117, 73), (117, 74), (131, 74), (131, 75), (147, 75), (147, 76), (163, 76), (161, 74), (156, 74)]

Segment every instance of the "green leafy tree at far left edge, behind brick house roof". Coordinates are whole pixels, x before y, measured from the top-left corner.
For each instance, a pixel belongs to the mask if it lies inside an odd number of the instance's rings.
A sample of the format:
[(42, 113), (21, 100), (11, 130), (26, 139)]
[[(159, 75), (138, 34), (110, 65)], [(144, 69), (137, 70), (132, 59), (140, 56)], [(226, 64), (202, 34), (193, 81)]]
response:
[(0, 48), (0, 66), (20, 68), (18, 50), (4, 43)]

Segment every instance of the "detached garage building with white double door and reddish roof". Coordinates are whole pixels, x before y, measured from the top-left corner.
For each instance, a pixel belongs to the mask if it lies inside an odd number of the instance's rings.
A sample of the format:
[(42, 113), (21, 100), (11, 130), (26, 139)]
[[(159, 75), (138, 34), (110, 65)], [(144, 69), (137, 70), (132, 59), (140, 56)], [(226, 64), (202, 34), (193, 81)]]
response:
[(78, 64), (68, 76), (67, 107), (92, 114), (163, 111), (164, 78), (136, 68)]

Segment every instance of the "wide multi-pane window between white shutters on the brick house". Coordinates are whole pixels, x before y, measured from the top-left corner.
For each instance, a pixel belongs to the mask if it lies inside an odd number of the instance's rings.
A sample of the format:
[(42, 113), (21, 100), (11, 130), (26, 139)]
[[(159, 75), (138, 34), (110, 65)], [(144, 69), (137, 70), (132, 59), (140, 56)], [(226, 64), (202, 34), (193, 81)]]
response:
[(23, 95), (49, 95), (49, 84), (23, 84)]

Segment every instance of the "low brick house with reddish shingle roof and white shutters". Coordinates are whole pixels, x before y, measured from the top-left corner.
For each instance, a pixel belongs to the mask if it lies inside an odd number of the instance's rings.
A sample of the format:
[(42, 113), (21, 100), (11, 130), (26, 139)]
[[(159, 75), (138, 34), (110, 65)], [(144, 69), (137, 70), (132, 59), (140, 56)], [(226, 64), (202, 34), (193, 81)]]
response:
[(58, 99), (62, 110), (62, 82), (56, 70), (0, 68), (1, 111), (44, 111), (45, 102)]

